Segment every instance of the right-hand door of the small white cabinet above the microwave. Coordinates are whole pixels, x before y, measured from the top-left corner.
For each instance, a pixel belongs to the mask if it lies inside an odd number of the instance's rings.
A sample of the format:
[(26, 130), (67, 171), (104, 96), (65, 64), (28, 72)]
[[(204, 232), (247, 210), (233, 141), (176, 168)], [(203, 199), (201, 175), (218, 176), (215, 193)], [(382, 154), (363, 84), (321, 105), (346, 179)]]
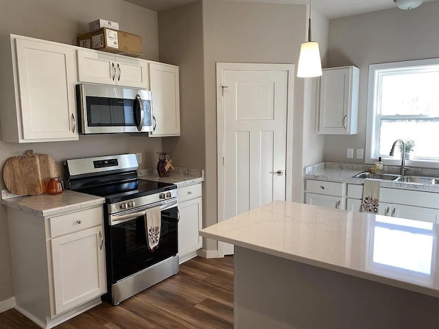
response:
[(117, 85), (150, 89), (148, 62), (135, 58), (116, 58)]

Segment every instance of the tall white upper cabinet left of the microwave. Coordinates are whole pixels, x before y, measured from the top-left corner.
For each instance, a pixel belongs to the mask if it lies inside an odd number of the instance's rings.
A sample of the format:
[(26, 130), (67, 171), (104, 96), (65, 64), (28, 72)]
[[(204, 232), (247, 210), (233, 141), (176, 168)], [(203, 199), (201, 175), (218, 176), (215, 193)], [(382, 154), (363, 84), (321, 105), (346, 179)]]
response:
[(3, 141), (78, 140), (74, 49), (13, 35), (0, 49)]

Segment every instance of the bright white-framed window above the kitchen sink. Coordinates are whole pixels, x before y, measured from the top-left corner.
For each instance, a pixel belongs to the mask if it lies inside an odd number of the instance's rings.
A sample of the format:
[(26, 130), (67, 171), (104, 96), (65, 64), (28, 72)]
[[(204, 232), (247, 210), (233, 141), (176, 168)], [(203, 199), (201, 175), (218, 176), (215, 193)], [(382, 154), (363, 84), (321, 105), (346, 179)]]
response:
[(368, 162), (398, 164), (402, 147), (389, 153), (402, 139), (412, 165), (439, 167), (439, 58), (369, 66), (367, 132)]

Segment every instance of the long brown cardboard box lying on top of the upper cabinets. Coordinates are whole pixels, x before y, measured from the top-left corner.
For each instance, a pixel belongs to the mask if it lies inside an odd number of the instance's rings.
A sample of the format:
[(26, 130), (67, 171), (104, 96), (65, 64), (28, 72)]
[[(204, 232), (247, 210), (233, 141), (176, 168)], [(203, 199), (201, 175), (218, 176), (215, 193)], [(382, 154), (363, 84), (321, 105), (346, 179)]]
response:
[(143, 55), (141, 36), (108, 27), (78, 36), (78, 46), (132, 57)]

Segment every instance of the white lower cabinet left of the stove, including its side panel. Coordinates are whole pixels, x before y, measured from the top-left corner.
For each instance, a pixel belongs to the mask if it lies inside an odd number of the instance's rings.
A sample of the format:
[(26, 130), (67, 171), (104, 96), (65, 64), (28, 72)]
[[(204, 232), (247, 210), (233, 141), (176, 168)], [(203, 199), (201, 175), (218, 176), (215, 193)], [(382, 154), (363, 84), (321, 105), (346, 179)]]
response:
[(106, 293), (102, 205), (39, 217), (8, 207), (16, 309), (53, 328)]

